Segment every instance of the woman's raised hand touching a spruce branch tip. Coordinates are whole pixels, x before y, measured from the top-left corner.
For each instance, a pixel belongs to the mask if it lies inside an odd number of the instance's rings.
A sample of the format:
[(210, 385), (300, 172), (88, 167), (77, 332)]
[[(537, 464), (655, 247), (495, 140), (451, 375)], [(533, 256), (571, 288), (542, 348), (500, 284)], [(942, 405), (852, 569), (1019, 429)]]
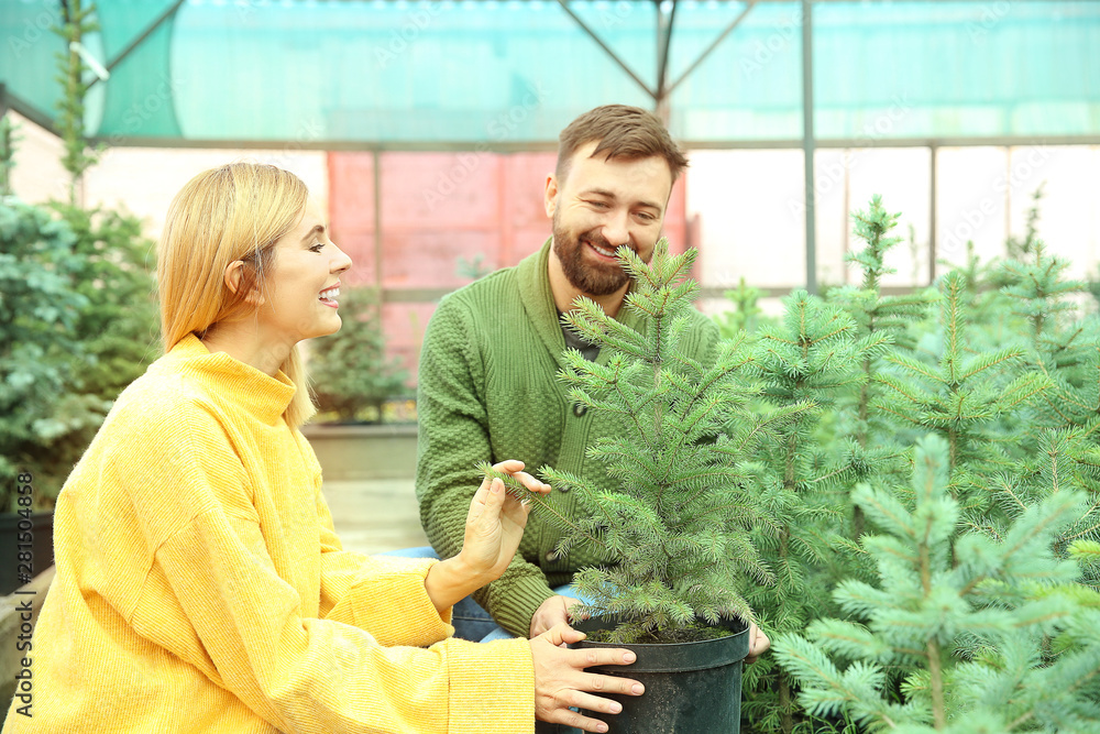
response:
[[(531, 492), (546, 494), (550, 485), (522, 471), (522, 461), (502, 461), (493, 469), (510, 474)], [(466, 513), (462, 550), (431, 567), (424, 585), (436, 609), (442, 613), (490, 581), (501, 578), (519, 549), (528, 504), (508, 494), (498, 479), (484, 480)]]

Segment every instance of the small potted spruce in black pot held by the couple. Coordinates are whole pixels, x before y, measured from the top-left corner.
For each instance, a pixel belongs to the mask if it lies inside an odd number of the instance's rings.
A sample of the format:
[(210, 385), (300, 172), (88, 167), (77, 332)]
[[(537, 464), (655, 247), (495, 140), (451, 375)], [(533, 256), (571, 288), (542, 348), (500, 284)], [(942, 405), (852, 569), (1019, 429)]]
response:
[[(634, 649), (635, 665), (605, 672), (646, 684), (641, 698), (622, 700), (610, 732), (736, 732), (746, 623), (754, 618), (741, 590), (771, 581), (750, 541), (750, 528), (768, 519), (754, 499), (748, 457), (803, 406), (767, 416), (749, 410), (757, 391), (746, 379), (752, 352), (744, 335), (718, 341), (707, 364), (678, 349), (698, 293), (686, 277), (694, 250), (670, 256), (662, 239), (649, 265), (627, 248), (617, 254), (634, 278), (624, 308), (644, 317), (644, 329), (579, 298), (564, 320), (612, 355), (596, 364), (570, 351), (560, 379), (575, 403), (620, 419), (618, 435), (588, 449), (619, 486), (602, 491), (543, 467), (542, 478), (575, 492), (585, 508), (566, 516), (518, 482), (506, 485), (562, 529), (558, 554), (591, 544), (605, 559), (574, 578), (585, 602), (580, 616), (588, 617), (579, 623), (588, 633), (582, 645)], [(487, 464), (480, 470), (499, 476)]]

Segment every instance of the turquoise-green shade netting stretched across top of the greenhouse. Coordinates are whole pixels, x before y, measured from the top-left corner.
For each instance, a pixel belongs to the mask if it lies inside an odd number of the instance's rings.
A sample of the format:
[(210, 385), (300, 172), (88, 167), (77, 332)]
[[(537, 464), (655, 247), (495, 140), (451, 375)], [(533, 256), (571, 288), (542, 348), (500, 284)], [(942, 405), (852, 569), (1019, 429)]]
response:
[[(173, 6), (101, 0), (89, 51), (109, 62)], [(653, 3), (570, 8), (637, 80), (547, 0), (188, 0), (96, 85), (89, 131), (116, 144), (524, 144), (597, 105), (652, 108)], [(679, 81), (678, 138), (801, 138), (801, 9), (676, 3), (664, 79)], [(53, 117), (61, 40), (11, 43), (44, 14), (56, 3), (0, 3), (0, 80), (16, 107)], [(1100, 135), (1100, 2), (817, 2), (813, 32), (818, 139)]]

